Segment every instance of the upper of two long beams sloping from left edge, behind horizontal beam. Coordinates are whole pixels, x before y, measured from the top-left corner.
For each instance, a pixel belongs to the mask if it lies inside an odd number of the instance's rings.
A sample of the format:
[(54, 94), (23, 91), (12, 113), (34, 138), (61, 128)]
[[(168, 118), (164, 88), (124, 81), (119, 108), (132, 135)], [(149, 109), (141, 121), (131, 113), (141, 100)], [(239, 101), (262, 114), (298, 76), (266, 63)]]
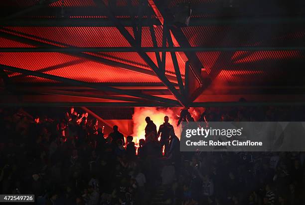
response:
[[(26, 35), (26, 34), (23, 34), (23, 33), (20, 33), (20, 32), (14, 32), (14, 31), (9, 30), (9, 29), (4, 29), (4, 28), (1, 28), (1, 29), (4, 30), (5, 32), (0, 31), (0, 37), (11, 39), (11, 40), (18, 41), (18, 42), (21, 42), (21, 43), (26, 43), (26, 44), (30, 44), (30, 45), (33, 45), (33, 46), (44, 47), (44, 48), (47, 48), (47, 49), (54, 49), (54, 50), (55, 49), (61, 49), (61, 47), (57, 47), (57, 46), (50, 45), (50, 44), (56, 44), (56, 45), (66, 46), (66, 47), (69, 46), (69, 45), (66, 45), (66, 44), (61, 44), (61, 43), (53, 42), (53, 41), (46, 40), (46, 39), (40, 39), (38, 37), (31, 36), (31, 35)], [(9, 33), (6, 33), (6, 32), (9, 32)], [(15, 33), (15, 34), (10, 34), (10, 33)], [(19, 35), (22, 35), (22, 36), (19, 36)], [(26, 37), (23, 37), (23, 36), (26, 36)], [(41, 40), (41, 41), (47, 41), (50, 44), (43, 43), (43, 42), (40, 42), (40, 41), (37, 41), (37, 40), (33, 40), (31, 38), (35, 38), (35, 39), (38, 39), (38, 40)], [(140, 67), (136, 67), (136, 66), (132, 66), (132, 65), (128, 65), (128, 64), (123, 64), (123, 63), (116, 62), (116, 61), (111, 61), (111, 60), (108, 60), (108, 59), (104, 59), (104, 58), (93, 56), (93, 55), (86, 54), (86, 53), (69, 53), (69, 52), (62, 52), (62, 53), (65, 53), (65, 54), (70, 55), (70, 56), (75, 56), (75, 57), (88, 59), (90, 61), (94, 61), (94, 62), (101, 63), (101, 64), (104, 64), (104, 65), (112, 66), (112, 67), (123, 68), (123, 69), (130, 70), (130, 71), (133, 71), (133, 72), (137, 72), (137, 73), (141, 73), (141, 74), (145, 74), (145, 75), (150, 75), (150, 76), (155, 76), (155, 73), (152, 70), (145, 69), (145, 68), (140, 68)], [(166, 74), (166, 77), (172, 82), (177, 82), (177, 79), (172, 75)]]

